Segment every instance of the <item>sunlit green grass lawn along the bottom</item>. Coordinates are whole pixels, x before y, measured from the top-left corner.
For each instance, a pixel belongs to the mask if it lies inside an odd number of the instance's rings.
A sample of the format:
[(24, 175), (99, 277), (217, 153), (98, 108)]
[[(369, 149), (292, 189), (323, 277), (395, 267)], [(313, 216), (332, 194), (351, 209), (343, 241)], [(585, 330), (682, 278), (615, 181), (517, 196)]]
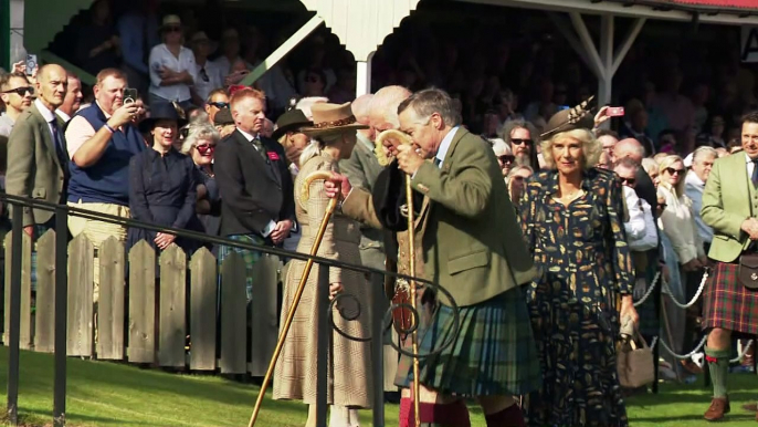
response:
[[(4, 406), (8, 352), (0, 347), (0, 397)], [(758, 378), (750, 374), (729, 377), (733, 413), (729, 426), (755, 426), (755, 416), (739, 408), (758, 397)], [(210, 375), (177, 375), (140, 369), (126, 364), (69, 358), (69, 426), (246, 426), (259, 387)], [(51, 355), (21, 353), (20, 414), (33, 426), (50, 425), (53, 406)], [(703, 420), (709, 392), (696, 385), (663, 385), (659, 395), (635, 396), (629, 402), (631, 425), (712, 426)], [(371, 414), (361, 426), (371, 426)], [(397, 426), (398, 407), (387, 405), (387, 426)], [(298, 403), (264, 402), (259, 426), (303, 426), (305, 407)], [(478, 408), (472, 425), (484, 426)]]

